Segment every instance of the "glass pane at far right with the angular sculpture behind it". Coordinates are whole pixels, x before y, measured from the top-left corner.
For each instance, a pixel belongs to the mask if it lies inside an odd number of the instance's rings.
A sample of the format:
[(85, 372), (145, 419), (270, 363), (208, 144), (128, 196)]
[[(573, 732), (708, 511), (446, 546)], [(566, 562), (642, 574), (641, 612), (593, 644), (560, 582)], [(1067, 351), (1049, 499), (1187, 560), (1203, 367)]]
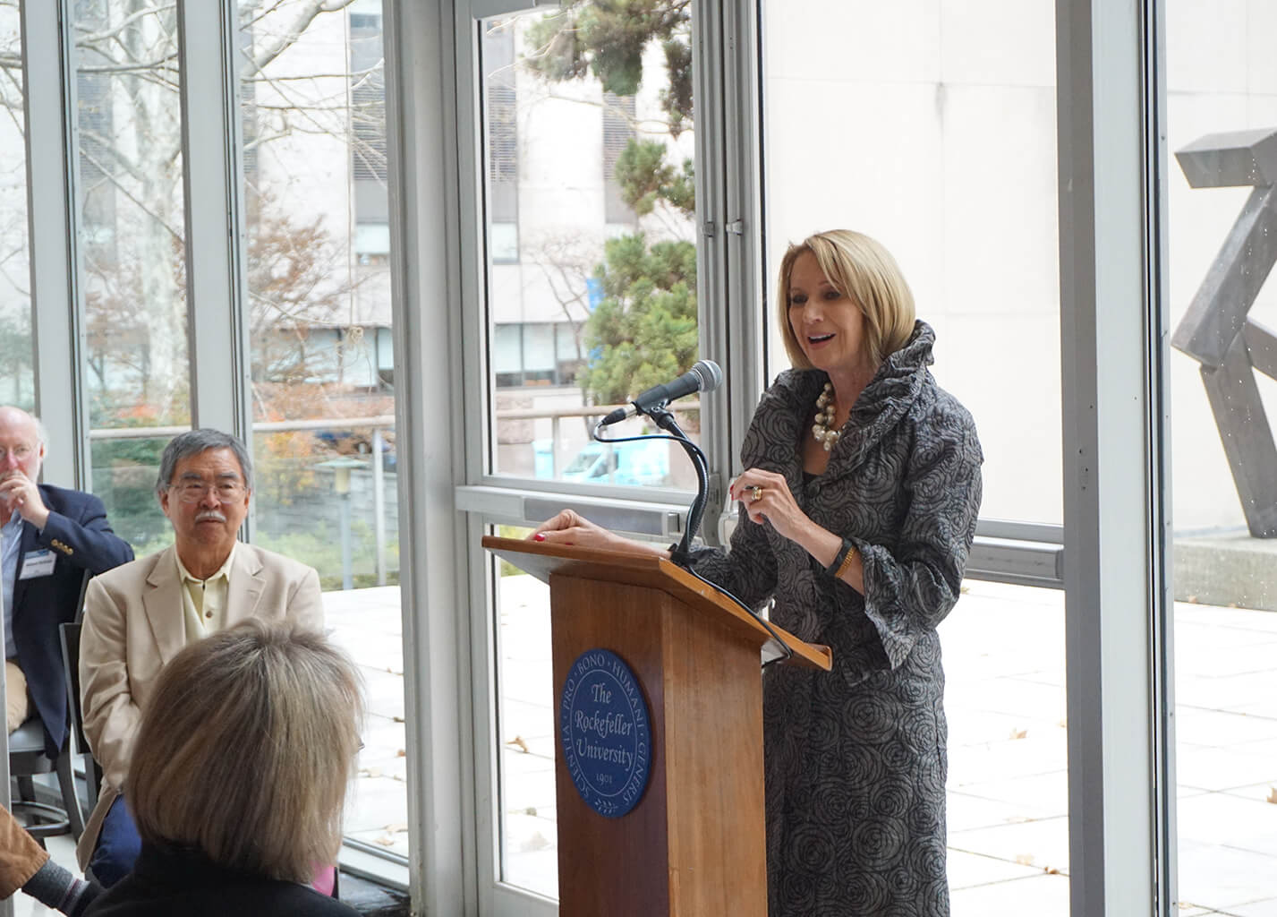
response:
[(1267, 3), (1166, 4), (1166, 447), (1179, 897), (1189, 913), (1277, 907), (1274, 36)]

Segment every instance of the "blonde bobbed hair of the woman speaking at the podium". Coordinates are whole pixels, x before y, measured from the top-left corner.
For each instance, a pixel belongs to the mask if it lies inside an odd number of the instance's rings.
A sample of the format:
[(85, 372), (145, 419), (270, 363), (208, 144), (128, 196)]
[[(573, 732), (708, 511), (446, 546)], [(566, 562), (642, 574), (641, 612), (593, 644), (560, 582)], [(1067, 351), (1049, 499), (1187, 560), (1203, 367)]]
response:
[(905, 345), (913, 333), (913, 291), (891, 253), (862, 232), (816, 232), (790, 245), (780, 259), (776, 315), (785, 352), (796, 369), (812, 368), (789, 324), (789, 275), (803, 252), (816, 255), (825, 278), (859, 307), (865, 315), (865, 347), (875, 367)]

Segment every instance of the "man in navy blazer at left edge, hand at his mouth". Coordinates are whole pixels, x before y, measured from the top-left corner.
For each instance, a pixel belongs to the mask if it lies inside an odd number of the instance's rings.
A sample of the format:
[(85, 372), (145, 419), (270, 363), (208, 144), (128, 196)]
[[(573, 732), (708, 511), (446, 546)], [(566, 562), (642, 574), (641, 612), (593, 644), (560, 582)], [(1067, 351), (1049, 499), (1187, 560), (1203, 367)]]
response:
[[(66, 682), (57, 626), (75, 618), (86, 571), (133, 559), (111, 531), (102, 501), (36, 484), (45, 433), (36, 418), (0, 406), (0, 572), (9, 732), (31, 715), (45, 724), (50, 757), (66, 739)], [(29, 705), (28, 705), (29, 697)]]

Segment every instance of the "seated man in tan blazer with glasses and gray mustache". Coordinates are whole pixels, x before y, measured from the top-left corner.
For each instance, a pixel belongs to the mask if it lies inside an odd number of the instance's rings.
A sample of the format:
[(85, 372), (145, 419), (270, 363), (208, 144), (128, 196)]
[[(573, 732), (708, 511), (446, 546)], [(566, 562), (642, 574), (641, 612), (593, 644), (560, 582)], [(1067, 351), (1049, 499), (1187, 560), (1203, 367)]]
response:
[(89, 581), (80, 697), (84, 734), (103, 775), (77, 856), (103, 885), (132, 868), (140, 847), (120, 788), (140, 708), (163, 664), (188, 644), (249, 617), (323, 627), (318, 573), (239, 542), (252, 490), (252, 460), (239, 439), (209, 429), (175, 437), (156, 480), (174, 545)]

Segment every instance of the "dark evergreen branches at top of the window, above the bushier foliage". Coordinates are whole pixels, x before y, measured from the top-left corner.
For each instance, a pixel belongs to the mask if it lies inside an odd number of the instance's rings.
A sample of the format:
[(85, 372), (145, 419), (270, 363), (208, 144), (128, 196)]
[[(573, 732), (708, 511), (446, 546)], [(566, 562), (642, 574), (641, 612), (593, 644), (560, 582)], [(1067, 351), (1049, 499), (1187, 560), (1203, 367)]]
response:
[(550, 80), (593, 74), (603, 88), (632, 96), (642, 84), (642, 52), (661, 42), (669, 88), (661, 107), (678, 137), (692, 119), (691, 0), (572, 0), (527, 32), (526, 63)]

